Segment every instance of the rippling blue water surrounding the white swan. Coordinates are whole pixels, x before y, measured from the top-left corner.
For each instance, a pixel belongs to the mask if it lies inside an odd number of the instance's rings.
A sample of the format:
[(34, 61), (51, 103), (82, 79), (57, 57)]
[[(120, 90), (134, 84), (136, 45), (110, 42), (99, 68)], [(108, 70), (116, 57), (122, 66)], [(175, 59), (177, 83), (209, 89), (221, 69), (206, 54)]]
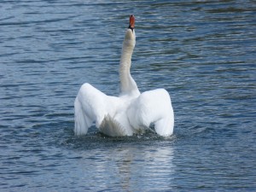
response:
[[(255, 190), (255, 13), (249, 0), (1, 1), (0, 190)], [(131, 73), (169, 91), (174, 135), (74, 137), (81, 84), (119, 93), (130, 14)]]

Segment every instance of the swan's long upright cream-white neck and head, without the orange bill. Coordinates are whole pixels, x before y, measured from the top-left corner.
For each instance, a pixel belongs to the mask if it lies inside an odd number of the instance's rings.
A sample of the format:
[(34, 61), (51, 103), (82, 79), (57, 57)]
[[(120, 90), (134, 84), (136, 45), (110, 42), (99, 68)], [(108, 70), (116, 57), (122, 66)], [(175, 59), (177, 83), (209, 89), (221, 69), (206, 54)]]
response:
[(131, 77), (131, 55), (135, 46), (135, 32), (131, 32), (130, 29), (127, 30), (125, 34), (125, 40), (123, 43), (122, 55), (119, 65), (119, 78), (121, 84), (121, 95), (136, 94), (139, 95), (140, 92), (137, 89), (137, 84)]

